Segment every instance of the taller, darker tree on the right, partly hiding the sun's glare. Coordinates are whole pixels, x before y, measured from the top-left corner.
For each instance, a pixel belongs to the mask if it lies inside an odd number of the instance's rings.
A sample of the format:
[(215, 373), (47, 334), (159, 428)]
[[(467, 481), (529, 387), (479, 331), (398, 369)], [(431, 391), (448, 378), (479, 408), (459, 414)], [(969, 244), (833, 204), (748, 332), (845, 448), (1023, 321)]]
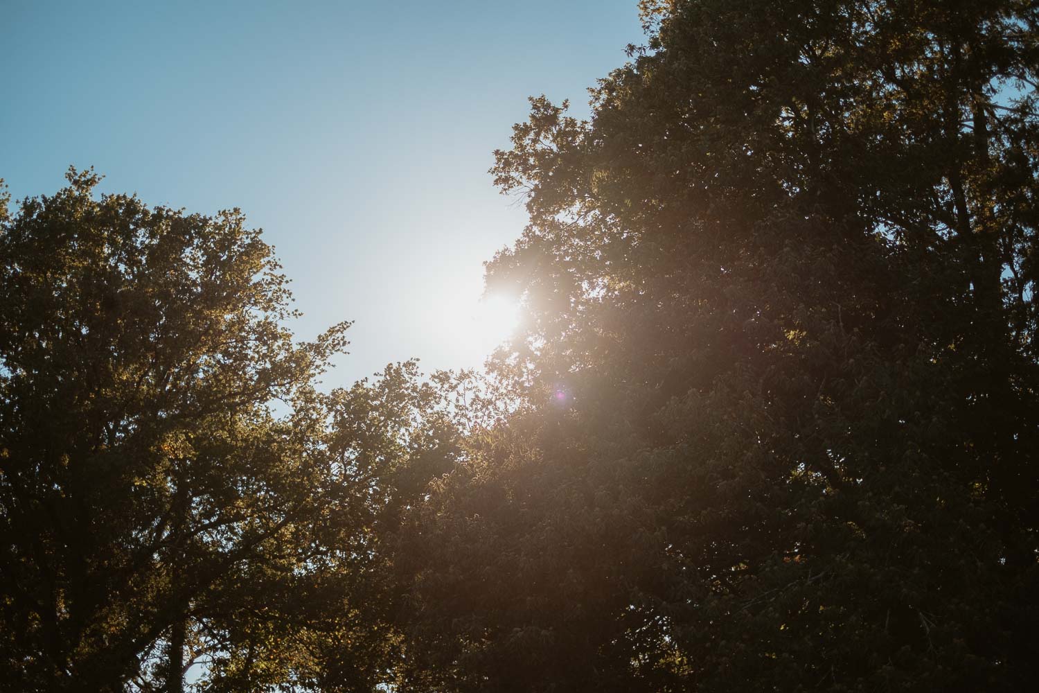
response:
[(640, 4), (497, 153), (529, 407), (418, 511), (412, 690), (1021, 690), (1039, 15)]

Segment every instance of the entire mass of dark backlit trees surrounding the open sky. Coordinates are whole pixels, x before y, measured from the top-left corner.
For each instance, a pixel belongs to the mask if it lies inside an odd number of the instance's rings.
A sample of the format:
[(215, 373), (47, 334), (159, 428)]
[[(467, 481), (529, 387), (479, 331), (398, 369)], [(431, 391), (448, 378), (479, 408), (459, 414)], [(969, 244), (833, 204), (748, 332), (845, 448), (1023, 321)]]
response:
[(496, 152), (487, 379), (321, 391), (237, 210), (0, 205), (0, 682), (1034, 685), (1039, 9), (639, 6)]

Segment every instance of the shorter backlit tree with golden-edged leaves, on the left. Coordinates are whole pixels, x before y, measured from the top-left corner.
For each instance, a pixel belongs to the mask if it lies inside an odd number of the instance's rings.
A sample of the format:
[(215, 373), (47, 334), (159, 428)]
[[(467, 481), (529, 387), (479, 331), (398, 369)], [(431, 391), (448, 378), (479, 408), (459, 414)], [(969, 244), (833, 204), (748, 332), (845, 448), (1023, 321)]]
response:
[(238, 210), (68, 180), (0, 218), (0, 681), (178, 691), (203, 658), (210, 690), (371, 689), (415, 365), (317, 392), (347, 324), (293, 342)]

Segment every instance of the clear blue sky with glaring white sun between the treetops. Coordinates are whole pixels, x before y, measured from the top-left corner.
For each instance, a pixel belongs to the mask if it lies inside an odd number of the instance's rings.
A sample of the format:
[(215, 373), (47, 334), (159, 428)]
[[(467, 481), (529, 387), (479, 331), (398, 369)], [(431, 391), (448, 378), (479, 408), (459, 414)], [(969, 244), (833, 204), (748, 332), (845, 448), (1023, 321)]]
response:
[(409, 357), (479, 367), (503, 329), (483, 262), (526, 222), (492, 151), (529, 96), (587, 115), (642, 42), (635, 0), (0, 0), (0, 178), (20, 199), (94, 166), (103, 192), (241, 208), (296, 335), (354, 321), (326, 388)]

